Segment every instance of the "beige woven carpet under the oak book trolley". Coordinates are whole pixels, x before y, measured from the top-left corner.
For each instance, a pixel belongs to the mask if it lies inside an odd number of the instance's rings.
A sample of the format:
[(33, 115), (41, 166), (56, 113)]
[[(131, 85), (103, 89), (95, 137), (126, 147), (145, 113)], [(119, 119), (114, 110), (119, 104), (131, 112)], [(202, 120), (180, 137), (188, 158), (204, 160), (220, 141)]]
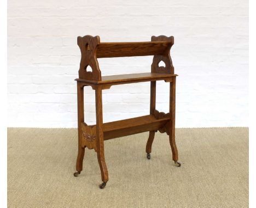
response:
[(181, 167), (166, 134), (105, 142), (109, 181), (100, 189), (94, 150), (74, 178), (76, 129), (8, 129), (8, 207), (248, 207), (248, 128), (177, 129)]

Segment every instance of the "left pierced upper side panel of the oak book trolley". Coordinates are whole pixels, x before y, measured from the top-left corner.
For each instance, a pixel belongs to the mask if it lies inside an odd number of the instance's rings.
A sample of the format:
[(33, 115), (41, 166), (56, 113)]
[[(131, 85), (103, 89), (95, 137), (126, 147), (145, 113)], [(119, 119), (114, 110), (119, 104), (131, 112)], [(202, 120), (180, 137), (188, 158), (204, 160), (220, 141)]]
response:
[[(101, 70), (96, 58), (97, 45), (100, 44), (99, 36), (85, 35), (77, 37), (77, 44), (81, 51), (79, 78), (101, 81)], [(87, 71), (88, 66), (92, 71)]]

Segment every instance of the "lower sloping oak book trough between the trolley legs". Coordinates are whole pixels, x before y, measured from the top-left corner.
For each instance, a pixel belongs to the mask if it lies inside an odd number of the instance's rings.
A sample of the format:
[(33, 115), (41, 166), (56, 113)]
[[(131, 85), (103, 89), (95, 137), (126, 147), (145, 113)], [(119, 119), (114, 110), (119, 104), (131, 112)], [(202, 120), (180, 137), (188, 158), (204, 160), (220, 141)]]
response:
[(136, 133), (156, 131), (164, 126), (169, 120), (170, 117), (156, 119), (154, 115), (144, 115), (142, 117), (104, 123), (103, 137), (104, 140), (108, 140)]

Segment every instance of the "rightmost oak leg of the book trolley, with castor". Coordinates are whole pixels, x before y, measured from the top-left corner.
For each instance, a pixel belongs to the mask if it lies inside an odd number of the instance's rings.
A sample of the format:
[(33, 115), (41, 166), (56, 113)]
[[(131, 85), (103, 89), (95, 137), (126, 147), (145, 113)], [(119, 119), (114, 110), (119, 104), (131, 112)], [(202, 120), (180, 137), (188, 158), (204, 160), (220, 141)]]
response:
[(178, 149), (175, 142), (175, 91), (176, 91), (176, 77), (173, 77), (173, 81), (170, 82), (170, 132), (169, 140), (172, 149), (172, 160), (175, 162), (176, 166), (181, 166), (178, 162)]

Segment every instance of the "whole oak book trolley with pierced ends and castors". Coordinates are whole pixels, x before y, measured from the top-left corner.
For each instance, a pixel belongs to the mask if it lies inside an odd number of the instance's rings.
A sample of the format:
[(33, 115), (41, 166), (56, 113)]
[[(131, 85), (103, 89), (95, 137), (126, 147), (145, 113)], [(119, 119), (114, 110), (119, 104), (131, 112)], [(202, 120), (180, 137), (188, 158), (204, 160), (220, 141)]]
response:
[[(94, 149), (97, 152), (98, 164), (101, 169), (102, 183), (104, 188), (108, 181), (108, 170), (104, 159), (104, 140), (131, 134), (149, 131), (146, 145), (147, 158), (150, 152), (155, 132), (166, 132), (169, 136), (172, 149), (172, 160), (176, 166), (178, 151), (175, 143), (175, 85), (176, 74), (172, 66), (170, 49), (174, 43), (173, 36), (152, 36), (148, 42), (100, 42), (99, 36), (78, 36), (77, 44), (81, 50), (79, 78), (77, 81), (78, 103), (78, 176), (83, 170), (84, 151)], [(114, 76), (101, 76), (101, 70), (97, 58), (131, 57), (131, 56), (154, 56), (150, 73), (126, 74)], [(164, 62), (165, 66), (159, 66)], [(92, 71), (87, 71), (88, 66)], [(156, 81), (164, 80), (170, 83), (170, 112), (163, 113), (155, 109)], [(128, 84), (150, 81), (150, 114), (142, 117), (118, 120), (103, 123), (102, 119), (102, 90), (109, 89), (112, 85)], [(95, 90), (96, 125), (88, 126), (84, 122), (84, 87), (91, 86)]]

